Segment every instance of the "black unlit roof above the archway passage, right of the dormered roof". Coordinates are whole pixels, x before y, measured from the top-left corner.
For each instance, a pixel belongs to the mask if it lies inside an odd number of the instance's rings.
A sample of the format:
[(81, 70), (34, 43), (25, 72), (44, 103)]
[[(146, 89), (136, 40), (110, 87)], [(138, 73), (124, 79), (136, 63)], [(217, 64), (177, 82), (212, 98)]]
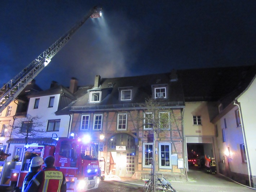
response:
[(246, 89), (255, 72), (255, 66), (177, 70), (186, 102), (219, 101), (231, 93), (238, 95)]

